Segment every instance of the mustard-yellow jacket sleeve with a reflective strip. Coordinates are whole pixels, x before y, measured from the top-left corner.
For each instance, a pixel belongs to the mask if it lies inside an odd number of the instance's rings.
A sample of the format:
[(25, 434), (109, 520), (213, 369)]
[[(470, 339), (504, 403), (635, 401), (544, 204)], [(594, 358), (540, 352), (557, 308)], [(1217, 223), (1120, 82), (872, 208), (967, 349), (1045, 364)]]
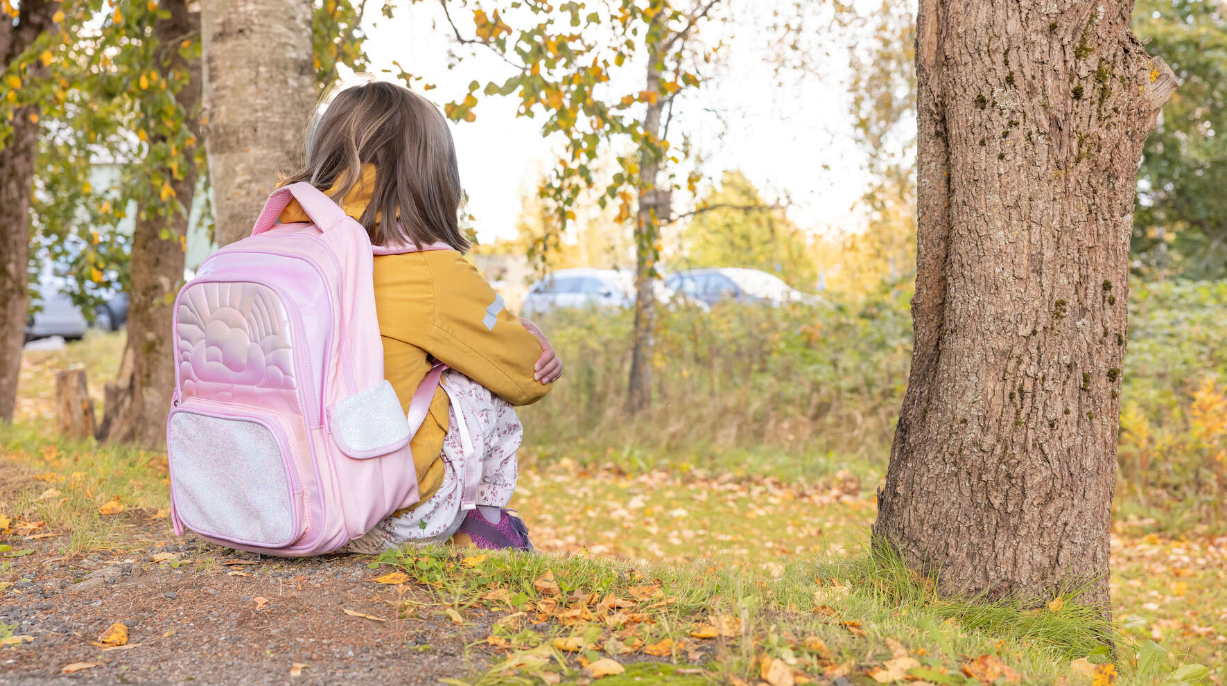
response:
[(467, 260), (439, 258), (427, 261), (437, 293), (427, 352), (512, 405), (544, 398), (550, 385), (533, 378), (541, 342)]

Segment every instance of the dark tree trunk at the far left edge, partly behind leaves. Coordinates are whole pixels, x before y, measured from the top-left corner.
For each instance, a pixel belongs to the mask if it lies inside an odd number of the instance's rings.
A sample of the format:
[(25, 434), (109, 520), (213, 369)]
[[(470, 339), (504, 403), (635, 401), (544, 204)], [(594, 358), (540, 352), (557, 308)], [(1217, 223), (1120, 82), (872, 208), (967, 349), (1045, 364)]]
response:
[[(49, 31), (59, 2), (27, 0), (17, 21), (0, 21), (0, 65), (9, 70), (38, 37)], [(26, 342), (29, 268), (29, 195), (38, 155), (37, 107), (13, 113), (12, 133), (0, 141), (0, 421), (11, 421), (17, 401), (21, 349)]]

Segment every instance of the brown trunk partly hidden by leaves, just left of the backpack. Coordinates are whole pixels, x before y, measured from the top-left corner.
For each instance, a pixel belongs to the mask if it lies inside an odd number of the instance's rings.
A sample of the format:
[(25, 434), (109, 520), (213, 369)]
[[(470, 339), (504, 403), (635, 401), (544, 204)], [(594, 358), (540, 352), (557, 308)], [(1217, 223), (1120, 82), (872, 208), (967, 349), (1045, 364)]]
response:
[[(155, 36), (166, 58), (157, 69), (169, 80), (173, 70), (188, 74), (188, 82), (175, 93), (185, 112), (185, 124), (199, 140), (200, 60), (184, 60), (179, 43), (200, 31), (200, 12), (189, 12), (187, 0), (162, 0), (169, 12), (155, 25)], [(160, 58), (162, 52), (160, 50)], [(153, 129), (153, 126), (151, 126)], [(190, 158), (193, 151), (184, 155)], [(183, 211), (141, 212), (133, 229), (131, 301), (128, 315), (128, 342), (119, 377), (107, 384), (102, 425), (98, 437), (106, 441), (137, 443), (157, 448), (166, 442), (166, 414), (174, 390), (174, 351), (172, 350), (172, 295), (183, 279), (183, 238), (188, 233), (188, 212), (196, 190), (196, 167), (183, 164), (180, 178), (171, 168), (162, 173), (171, 179)], [(163, 238), (162, 231), (168, 234)]]

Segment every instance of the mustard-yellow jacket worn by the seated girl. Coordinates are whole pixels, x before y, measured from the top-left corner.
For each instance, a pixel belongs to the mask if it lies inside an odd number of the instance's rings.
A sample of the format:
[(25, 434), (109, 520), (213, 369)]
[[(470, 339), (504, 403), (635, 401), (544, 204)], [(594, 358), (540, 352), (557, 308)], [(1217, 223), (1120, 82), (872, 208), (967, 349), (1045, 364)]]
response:
[[(356, 190), (363, 190), (362, 185)], [(366, 199), (341, 204), (360, 217)], [(281, 214), (285, 223), (310, 221), (297, 201)], [(428, 357), (471, 378), (512, 405), (536, 403), (550, 385), (533, 378), (541, 344), (477, 270), (455, 250), (374, 258), (375, 313), (384, 346), (384, 378), (407, 412), (413, 391), (431, 368)], [(443, 437), (448, 395), (436, 389), (429, 415), (410, 447), (421, 498), (443, 482)]]

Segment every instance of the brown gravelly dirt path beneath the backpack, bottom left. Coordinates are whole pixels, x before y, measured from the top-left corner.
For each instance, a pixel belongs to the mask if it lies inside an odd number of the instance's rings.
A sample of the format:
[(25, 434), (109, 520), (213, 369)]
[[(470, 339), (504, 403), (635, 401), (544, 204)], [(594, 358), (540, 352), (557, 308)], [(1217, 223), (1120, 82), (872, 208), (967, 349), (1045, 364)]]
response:
[[(459, 627), (431, 611), (438, 607), (394, 619), (406, 587), (373, 583), (383, 572), (368, 558), (193, 560), (223, 551), (190, 538), (56, 558), (54, 539), (32, 542), (42, 550), (12, 561), (5, 578), (17, 580), (0, 598), (0, 622), (32, 637), (0, 649), (4, 685), (437, 684), (492, 659), (466, 648), (487, 634), (480, 612)], [(254, 563), (222, 563), (231, 560)], [(92, 646), (113, 622), (128, 627), (128, 644)], [(72, 663), (97, 664), (64, 674)]]

